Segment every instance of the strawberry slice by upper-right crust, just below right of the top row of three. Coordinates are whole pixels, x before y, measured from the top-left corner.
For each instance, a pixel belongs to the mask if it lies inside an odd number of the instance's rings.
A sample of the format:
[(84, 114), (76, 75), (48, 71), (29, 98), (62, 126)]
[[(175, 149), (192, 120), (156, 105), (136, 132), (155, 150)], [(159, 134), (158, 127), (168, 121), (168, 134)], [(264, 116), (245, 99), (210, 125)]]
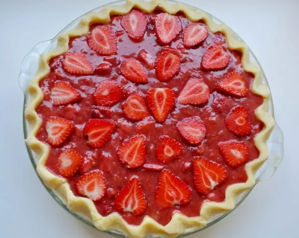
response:
[(206, 70), (223, 70), (229, 65), (230, 59), (222, 46), (210, 46), (203, 56), (202, 67)]

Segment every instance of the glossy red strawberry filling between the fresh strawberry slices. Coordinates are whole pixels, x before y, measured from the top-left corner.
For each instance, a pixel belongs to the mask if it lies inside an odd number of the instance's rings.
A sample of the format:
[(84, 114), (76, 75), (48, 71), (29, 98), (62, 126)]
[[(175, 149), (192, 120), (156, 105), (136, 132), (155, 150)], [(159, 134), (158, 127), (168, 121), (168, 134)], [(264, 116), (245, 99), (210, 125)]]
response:
[[(167, 82), (161, 82), (157, 79), (155, 69), (144, 67), (148, 77), (148, 83), (137, 84), (127, 80), (121, 73), (120, 66), (125, 59), (136, 59), (138, 52), (145, 49), (150, 53), (154, 60), (157, 53), (165, 46), (157, 41), (155, 32), (156, 13), (146, 15), (147, 28), (144, 37), (141, 40), (132, 40), (124, 28), (121, 26), (121, 16), (112, 17), (111, 26), (117, 39), (117, 54), (112, 56), (99, 56), (94, 50), (91, 50), (87, 44), (87, 37), (75, 37), (70, 39), (69, 52), (84, 54), (92, 67), (95, 69), (99, 64), (110, 62), (112, 70), (107, 75), (93, 73), (92, 75), (74, 75), (66, 72), (62, 66), (65, 55), (55, 57), (50, 61), (51, 72), (40, 81), (40, 88), (44, 93), (42, 103), (36, 109), (43, 124), (41, 125), (37, 138), (45, 143), (47, 141), (46, 122), (52, 116), (62, 117), (73, 121), (74, 129), (66, 141), (59, 146), (50, 146), (49, 156), (46, 161), (46, 167), (54, 174), (60, 175), (58, 168), (58, 157), (66, 149), (77, 151), (84, 158), (90, 158), (93, 161), (92, 169), (103, 171), (106, 179), (105, 195), (94, 201), (94, 204), (100, 214), (107, 216), (115, 212), (115, 198), (117, 194), (126, 186), (133, 175), (140, 179), (143, 193), (147, 200), (147, 207), (142, 214), (132, 212), (119, 212), (123, 218), (130, 224), (138, 225), (142, 222), (145, 215), (155, 219), (162, 225), (167, 224), (174, 212), (180, 212), (187, 216), (198, 216), (202, 203), (206, 200), (223, 201), (225, 199), (225, 190), (230, 184), (245, 182), (247, 175), (245, 164), (232, 167), (224, 159), (219, 149), (220, 141), (238, 140), (243, 141), (249, 148), (247, 161), (256, 159), (259, 155), (257, 148), (254, 146), (253, 138), (260, 132), (263, 125), (255, 117), (254, 110), (261, 105), (263, 98), (253, 94), (250, 90), (246, 97), (233, 97), (215, 90), (218, 84), (225, 76), (231, 72), (239, 72), (246, 80), (248, 86), (251, 85), (254, 76), (244, 72), (241, 67), (241, 54), (236, 51), (229, 51), (225, 38), (220, 34), (209, 32), (208, 38), (202, 43), (186, 48), (183, 45), (183, 32), (181, 32), (168, 47), (177, 49), (181, 53), (181, 65), (177, 75)], [(191, 22), (182, 15), (178, 15), (182, 28), (190, 25)], [(90, 31), (96, 25), (90, 27)], [(230, 55), (229, 65), (218, 71), (204, 70), (201, 66), (202, 58), (210, 46), (221, 45)], [(158, 123), (152, 113), (140, 121), (132, 121), (123, 113), (123, 103), (132, 93), (138, 92), (146, 96), (151, 88), (169, 88), (172, 89), (175, 98), (190, 79), (202, 78), (209, 86), (209, 101), (199, 105), (182, 105), (175, 101), (173, 108), (168, 114), (165, 122)], [(92, 114), (94, 105), (93, 93), (99, 82), (112, 80), (124, 88), (124, 98), (116, 105), (109, 107), (106, 114), (101, 114), (100, 118), (112, 119), (116, 122), (116, 129), (111, 139), (102, 148), (92, 148), (86, 142), (83, 135), (83, 129), (90, 118), (96, 117)], [(64, 81), (80, 92), (81, 99), (66, 105), (53, 105), (50, 91), (54, 83)], [(226, 117), (235, 106), (244, 106), (249, 112), (251, 131), (248, 135), (237, 136), (232, 133), (225, 123)], [(206, 136), (202, 143), (192, 145), (187, 142), (177, 130), (177, 122), (187, 117), (200, 116), (206, 126)], [(146, 157), (144, 164), (161, 165), (164, 169), (171, 171), (175, 176), (182, 180), (190, 189), (191, 197), (187, 204), (173, 205), (163, 208), (157, 205), (155, 192), (161, 170), (154, 171), (146, 166), (137, 168), (128, 168), (121, 163), (117, 149), (122, 142), (135, 135), (144, 135), (146, 138)], [(177, 140), (183, 147), (181, 155), (171, 160), (169, 163), (162, 163), (156, 159), (155, 146), (160, 136), (167, 135)], [(208, 160), (215, 161), (223, 165), (227, 171), (226, 179), (219, 185), (216, 185), (208, 194), (198, 192), (194, 185), (194, 174), (191, 162), (194, 156), (202, 156)], [(161, 169), (162, 167), (159, 167)], [(70, 187), (75, 195), (80, 195), (76, 189), (76, 182), (81, 174), (77, 171), (73, 176), (67, 177)]]

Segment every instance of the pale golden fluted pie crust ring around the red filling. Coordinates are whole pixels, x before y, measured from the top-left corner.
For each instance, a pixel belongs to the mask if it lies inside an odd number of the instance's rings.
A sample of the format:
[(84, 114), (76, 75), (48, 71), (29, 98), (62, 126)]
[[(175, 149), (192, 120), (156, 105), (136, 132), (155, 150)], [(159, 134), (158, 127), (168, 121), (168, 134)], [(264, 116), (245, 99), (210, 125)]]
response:
[[(109, 23), (111, 16), (127, 14), (133, 7), (146, 13), (152, 13), (156, 8), (159, 8), (169, 14), (182, 12), (186, 18), (192, 22), (203, 20), (212, 33), (222, 33), (226, 37), (228, 48), (242, 53), (242, 68), (247, 72), (251, 72), (255, 76), (251, 91), (264, 98), (263, 104), (255, 110), (256, 117), (264, 123), (263, 129), (254, 137), (255, 146), (259, 150), (260, 154), (257, 159), (254, 159), (245, 165), (248, 177), (247, 181), (228, 186), (225, 193), (226, 198), (222, 202), (204, 202), (200, 211), (200, 216), (187, 217), (175, 212), (170, 222), (165, 226), (159, 224), (149, 216), (145, 216), (140, 225), (131, 225), (128, 224), (117, 212), (113, 212), (108, 216), (102, 216), (99, 214), (95, 205), (89, 198), (75, 196), (65, 178), (54, 175), (45, 167), (49, 147), (36, 138), (36, 134), (42, 123), (42, 120), (35, 111), (36, 107), (43, 100), (43, 93), (39, 87), (39, 81), (50, 72), (50, 67), (48, 65), (50, 59), (68, 51), (68, 42), (70, 37), (87, 35), (91, 24)], [(98, 229), (120, 230), (130, 237), (144, 237), (146, 235), (162, 237), (177, 236), (202, 228), (211, 218), (213, 218), (213, 216), (232, 210), (235, 207), (237, 196), (243, 191), (254, 186), (255, 172), (268, 158), (266, 141), (269, 138), (275, 123), (273, 117), (268, 113), (269, 98), (271, 96), (270, 90), (266, 85), (262, 84), (261, 69), (250, 63), (249, 49), (247, 45), (237, 39), (232, 30), (230, 30), (230, 28), (226, 25), (214, 23), (208, 14), (200, 12), (191, 6), (182, 3), (170, 3), (164, 0), (152, 0), (151, 2), (127, 0), (124, 5), (105, 7), (101, 12), (89, 13), (82, 17), (80, 23), (75, 29), (62, 33), (58, 37), (55, 49), (41, 55), (38, 70), (34, 79), (28, 86), (28, 93), (30, 99), (25, 110), (25, 117), (29, 124), (30, 133), (26, 142), (35, 152), (39, 160), (37, 163), (37, 172), (42, 178), (44, 184), (55, 190), (64, 199), (71, 211), (87, 216)]]

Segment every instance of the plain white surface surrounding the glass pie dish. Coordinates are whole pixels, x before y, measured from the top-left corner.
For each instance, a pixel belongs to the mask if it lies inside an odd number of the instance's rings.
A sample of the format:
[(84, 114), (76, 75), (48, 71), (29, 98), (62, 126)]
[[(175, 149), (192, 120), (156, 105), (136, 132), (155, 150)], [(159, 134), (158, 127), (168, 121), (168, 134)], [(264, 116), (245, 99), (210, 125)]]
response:
[[(84, 2), (84, 4), (83, 4)], [(210, 12), (235, 30), (268, 78), (284, 159), (222, 221), (189, 237), (298, 238), (299, 220), (299, 1), (183, 1)], [(109, 1), (0, 0), (0, 237), (112, 237), (76, 220), (47, 193), (28, 158), (18, 74), (32, 47), (54, 37), (74, 18)]]

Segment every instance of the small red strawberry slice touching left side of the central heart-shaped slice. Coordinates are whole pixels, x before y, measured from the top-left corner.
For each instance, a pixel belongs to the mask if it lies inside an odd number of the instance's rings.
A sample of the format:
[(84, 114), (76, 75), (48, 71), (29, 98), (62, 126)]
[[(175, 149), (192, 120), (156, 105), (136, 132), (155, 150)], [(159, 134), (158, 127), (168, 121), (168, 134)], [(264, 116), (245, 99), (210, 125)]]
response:
[(134, 121), (140, 121), (150, 116), (145, 98), (139, 93), (132, 93), (125, 101), (123, 112), (126, 117)]

